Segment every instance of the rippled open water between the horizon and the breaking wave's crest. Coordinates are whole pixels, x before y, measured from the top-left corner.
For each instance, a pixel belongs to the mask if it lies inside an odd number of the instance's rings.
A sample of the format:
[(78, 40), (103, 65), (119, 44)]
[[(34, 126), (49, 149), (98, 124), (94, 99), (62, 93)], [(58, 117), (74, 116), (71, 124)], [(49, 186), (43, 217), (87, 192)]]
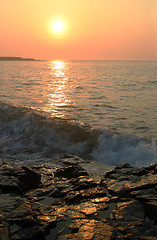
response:
[(1, 62), (0, 100), (57, 117), (157, 139), (157, 63)]

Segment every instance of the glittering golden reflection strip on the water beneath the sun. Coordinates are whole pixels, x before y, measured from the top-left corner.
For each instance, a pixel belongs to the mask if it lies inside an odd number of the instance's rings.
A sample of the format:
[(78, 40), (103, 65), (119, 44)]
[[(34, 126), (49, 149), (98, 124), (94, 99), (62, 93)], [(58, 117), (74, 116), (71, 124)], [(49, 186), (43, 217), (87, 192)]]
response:
[(60, 109), (71, 103), (66, 94), (66, 84), (68, 82), (66, 71), (68, 70), (68, 66), (64, 61), (56, 60), (49, 62), (49, 70), (51, 80), (48, 84), (47, 104), (43, 110), (55, 117), (64, 117), (65, 115), (63, 112), (61, 113)]

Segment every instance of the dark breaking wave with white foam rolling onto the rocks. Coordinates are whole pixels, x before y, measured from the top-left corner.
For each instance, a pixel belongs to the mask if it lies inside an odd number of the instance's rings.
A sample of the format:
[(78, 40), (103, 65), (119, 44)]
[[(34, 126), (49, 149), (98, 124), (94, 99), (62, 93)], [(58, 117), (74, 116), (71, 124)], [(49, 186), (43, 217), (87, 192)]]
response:
[(155, 143), (0, 102), (1, 157), (41, 160), (65, 153), (109, 165), (127, 162), (140, 167), (157, 162)]

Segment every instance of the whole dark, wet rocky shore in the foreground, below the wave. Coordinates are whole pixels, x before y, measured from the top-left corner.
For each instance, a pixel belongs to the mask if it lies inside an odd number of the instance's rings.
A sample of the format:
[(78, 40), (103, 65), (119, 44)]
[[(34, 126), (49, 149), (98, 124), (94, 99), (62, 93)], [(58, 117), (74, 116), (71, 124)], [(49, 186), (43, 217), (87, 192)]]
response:
[(120, 164), (102, 175), (72, 155), (0, 165), (1, 240), (157, 239), (156, 164)]

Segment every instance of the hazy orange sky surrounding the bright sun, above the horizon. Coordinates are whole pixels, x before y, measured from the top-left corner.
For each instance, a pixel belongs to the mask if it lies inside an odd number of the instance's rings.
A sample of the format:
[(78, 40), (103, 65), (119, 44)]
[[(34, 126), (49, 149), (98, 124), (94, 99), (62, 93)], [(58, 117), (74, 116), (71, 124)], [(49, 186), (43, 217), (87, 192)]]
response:
[(0, 0), (0, 56), (157, 60), (157, 0)]

